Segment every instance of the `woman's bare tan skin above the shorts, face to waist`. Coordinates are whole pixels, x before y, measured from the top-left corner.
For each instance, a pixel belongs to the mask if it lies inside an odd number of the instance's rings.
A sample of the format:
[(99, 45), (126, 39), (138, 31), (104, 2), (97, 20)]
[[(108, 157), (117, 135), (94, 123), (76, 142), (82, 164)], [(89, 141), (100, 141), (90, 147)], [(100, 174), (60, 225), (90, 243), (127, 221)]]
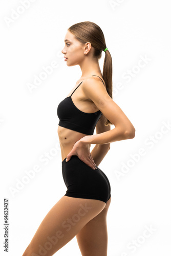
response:
[[(90, 152), (91, 144), (106, 144), (103, 148), (109, 149), (110, 142), (133, 138), (135, 129), (123, 111), (108, 95), (100, 78), (92, 77), (92, 75), (102, 77), (102, 74), (98, 60), (93, 58), (94, 49), (91, 43), (80, 44), (69, 31), (66, 34), (65, 42), (66, 45), (62, 53), (68, 58), (67, 66), (79, 65), (82, 71), (81, 78), (66, 97), (70, 96), (78, 84), (83, 81), (72, 95), (74, 104), (79, 110), (86, 113), (93, 113), (100, 110), (106, 118), (115, 124), (117, 129), (110, 131), (110, 125), (104, 125), (104, 117), (101, 117), (96, 125), (96, 130), (100, 130), (100, 133), (102, 133), (100, 135), (101, 137), (97, 137), (97, 135), (87, 136), (86, 134), (58, 126), (62, 161), (66, 157), (69, 161), (72, 155), (77, 155), (84, 163), (92, 168), (96, 168), (95, 165), (99, 164), (101, 161), (100, 157), (97, 159), (96, 156), (97, 161), (92, 157)], [(106, 131), (108, 131), (108, 134), (103, 133)], [(93, 137), (95, 137), (94, 141)]]

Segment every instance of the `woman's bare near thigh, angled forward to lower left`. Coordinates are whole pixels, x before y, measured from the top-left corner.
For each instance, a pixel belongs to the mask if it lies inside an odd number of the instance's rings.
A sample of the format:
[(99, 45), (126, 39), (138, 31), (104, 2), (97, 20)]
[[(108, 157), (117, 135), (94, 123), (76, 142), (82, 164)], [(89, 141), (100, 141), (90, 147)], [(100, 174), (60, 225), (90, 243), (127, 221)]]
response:
[(53, 255), (104, 207), (100, 200), (63, 196), (40, 223), (23, 256)]

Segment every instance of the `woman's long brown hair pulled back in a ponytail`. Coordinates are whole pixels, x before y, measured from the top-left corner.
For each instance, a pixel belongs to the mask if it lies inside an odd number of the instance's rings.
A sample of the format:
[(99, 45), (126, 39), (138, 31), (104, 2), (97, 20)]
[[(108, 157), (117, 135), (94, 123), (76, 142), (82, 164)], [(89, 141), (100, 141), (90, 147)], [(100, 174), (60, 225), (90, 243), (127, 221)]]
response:
[[(106, 49), (105, 38), (101, 28), (93, 22), (80, 22), (71, 26), (68, 31), (75, 35), (75, 38), (82, 44), (91, 42), (94, 47), (94, 57), (101, 58), (101, 52)], [(112, 98), (112, 57), (109, 50), (105, 51), (105, 58), (103, 63), (103, 79), (106, 85), (106, 91)], [(113, 124), (106, 118), (105, 125)]]

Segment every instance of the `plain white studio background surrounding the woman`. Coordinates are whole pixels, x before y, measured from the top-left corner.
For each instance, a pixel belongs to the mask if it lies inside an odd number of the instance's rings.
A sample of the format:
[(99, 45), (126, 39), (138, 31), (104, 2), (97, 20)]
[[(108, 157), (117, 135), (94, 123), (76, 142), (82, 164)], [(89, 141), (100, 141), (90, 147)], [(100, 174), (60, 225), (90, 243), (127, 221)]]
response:
[[(98, 24), (104, 33), (113, 59), (113, 100), (136, 129), (134, 139), (112, 143), (99, 165), (111, 183), (108, 255), (169, 255), (170, 2), (36, 0), (12, 19), (14, 12), (22, 10), (22, 2), (1, 1), (0, 6), (1, 255), (7, 255), (3, 251), (4, 198), (9, 201), (8, 255), (18, 256), (66, 193), (56, 110), (81, 70), (79, 66), (68, 67), (61, 50), (67, 29), (86, 20)], [(139, 68), (141, 58), (147, 61)], [(104, 53), (101, 69), (103, 59)], [(33, 84), (35, 76), (44, 71), (42, 67), (52, 61), (58, 67), (30, 91), (28, 84)], [(125, 79), (129, 71), (133, 76)], [(117, 90), (119, 82), (121, 90)], [(48, 159), (46, 153), (51, 159), (42, 162)], [(134, 160), (133, 155), (137, 156)], [(40, 172), (12, 193), (10, 188), (16, 188), (26, 170), (35, 165), (40, 166)], [(127, 247), (133, 241), (137, 243), (134, 252)], [(81, 255), (76, 237), (56, 254)]]

